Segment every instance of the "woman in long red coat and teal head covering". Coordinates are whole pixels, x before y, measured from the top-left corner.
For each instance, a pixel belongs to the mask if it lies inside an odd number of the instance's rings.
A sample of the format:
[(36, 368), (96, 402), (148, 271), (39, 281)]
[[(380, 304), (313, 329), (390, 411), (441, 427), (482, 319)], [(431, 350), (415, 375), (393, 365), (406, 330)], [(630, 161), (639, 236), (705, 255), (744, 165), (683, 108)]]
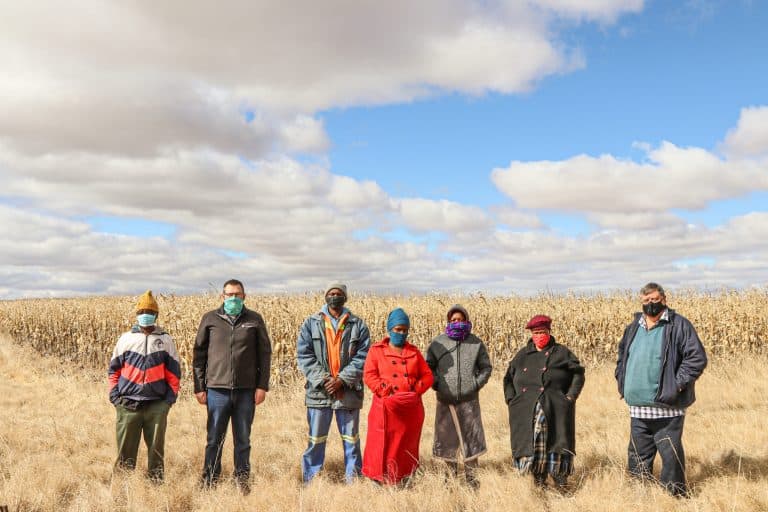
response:
[(405, 340), (410, 325), (405, 311), (392, 311), (389, 336), (371, 346), (363, 369), (363, 381), (373, 392), (363, 474), (385, 484), (400, 482), (419, 466), (421, 395), (433, 381), (419, 349)]

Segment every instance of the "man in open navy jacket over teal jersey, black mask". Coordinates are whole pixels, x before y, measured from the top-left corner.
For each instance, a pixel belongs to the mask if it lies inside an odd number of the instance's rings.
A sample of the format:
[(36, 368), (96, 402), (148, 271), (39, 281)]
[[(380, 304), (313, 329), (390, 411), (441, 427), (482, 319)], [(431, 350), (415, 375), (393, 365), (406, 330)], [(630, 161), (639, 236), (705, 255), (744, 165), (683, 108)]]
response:
[(648, 283), (640, 298), (643, 312), (624, 330), (616, 363), (619, 394), (631, 418), (629, 472), (650, 476), (658, 451), (661, 483), (671, 494), (687, 496), (683, 423), (707, 355), (691, 322), (667, 307), (664, 288)]

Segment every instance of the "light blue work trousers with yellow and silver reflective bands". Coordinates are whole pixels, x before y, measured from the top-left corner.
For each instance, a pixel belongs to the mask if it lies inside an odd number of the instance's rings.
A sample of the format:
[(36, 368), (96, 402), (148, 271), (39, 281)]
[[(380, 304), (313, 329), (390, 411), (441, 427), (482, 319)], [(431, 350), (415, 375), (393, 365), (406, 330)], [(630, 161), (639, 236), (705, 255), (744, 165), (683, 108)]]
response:
[(360, 454), (360, 409), (331, 409), (330, 407), (307, 408), (309, 423), (309, 444), (301, 459), (301, 472), (305, 482), (309, 482), (322, 469), (325, 461), (325, 443), (331, 428), (333, 414), (336, 413), (336, 426), (344, 444), (344, 467), (347, 483), (351, 483), (360, 474), (363, 457)]

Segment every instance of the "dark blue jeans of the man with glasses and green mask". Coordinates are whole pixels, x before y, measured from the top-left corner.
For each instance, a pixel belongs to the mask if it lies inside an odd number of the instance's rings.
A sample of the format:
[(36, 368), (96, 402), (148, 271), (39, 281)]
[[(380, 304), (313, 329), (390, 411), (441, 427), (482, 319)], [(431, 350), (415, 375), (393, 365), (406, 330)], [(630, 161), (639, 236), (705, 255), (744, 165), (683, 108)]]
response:
[(255, 389), (208, 389), (208, 444), (205, 447), (203, 478), (215, 482), (221, 476), (221, 450), (232, 419), (235, 439), (235, 478), (251, 473), (251, 424), (256, 410)]

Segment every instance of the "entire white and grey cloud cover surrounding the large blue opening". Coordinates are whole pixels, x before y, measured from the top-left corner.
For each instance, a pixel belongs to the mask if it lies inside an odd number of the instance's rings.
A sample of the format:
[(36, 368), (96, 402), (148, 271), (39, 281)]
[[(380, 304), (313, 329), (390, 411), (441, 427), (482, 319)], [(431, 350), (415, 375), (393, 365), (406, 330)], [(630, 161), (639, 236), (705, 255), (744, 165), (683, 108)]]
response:
[[(39, 0), (0, 15), (0, 296), (261, 290), (537, 291), (756, 282), (766, 214), (691, 226), (672, 208), (768, 188), (766, 107), (722, 156), (512, 162), (490, 208), (395, 197), (323, 161), (324, 109), (520, 93), (586, 65), (553, 23), (614, 23), (641, 0), (226, 5)], [(44, 36), (43, 36), (44, 34)], [(305, 154), (318, 158), (301, 158)], [(638, 180), (654, 183), (637, 194)], [(587, 235), (541, 213), (578, 212)], [(175, 226), (100, 232), (92, 216)], [(760, 235), (760, 236), (757, 236)], [(653, 254), (652, 259), (648, 258)], [(700, 255), (716, 255), (702, 263)], [(696, 261), (693, 261), (696, 260)]]

